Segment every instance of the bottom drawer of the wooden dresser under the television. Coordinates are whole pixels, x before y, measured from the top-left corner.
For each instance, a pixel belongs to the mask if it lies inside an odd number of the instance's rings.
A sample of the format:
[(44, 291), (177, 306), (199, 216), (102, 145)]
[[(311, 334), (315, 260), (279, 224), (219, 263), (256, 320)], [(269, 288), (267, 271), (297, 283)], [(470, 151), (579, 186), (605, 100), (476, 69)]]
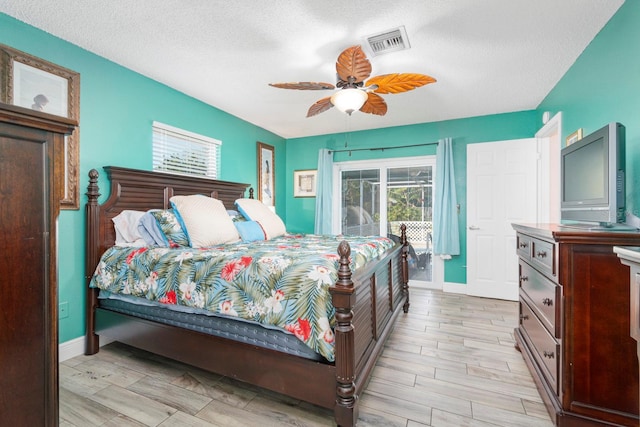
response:
[(533, 353), (540, 368), (555, 393), (558, 393), (558, 371), (560, 366), (560, 345), (547, 329), (542, 326), (529, 306), (520, 302), (520, 325), (533, 344)]

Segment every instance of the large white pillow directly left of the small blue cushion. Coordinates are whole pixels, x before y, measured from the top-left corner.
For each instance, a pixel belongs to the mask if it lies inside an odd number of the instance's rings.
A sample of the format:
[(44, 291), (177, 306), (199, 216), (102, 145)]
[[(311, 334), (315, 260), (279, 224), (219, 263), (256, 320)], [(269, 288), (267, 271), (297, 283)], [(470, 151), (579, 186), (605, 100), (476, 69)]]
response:
[(192, 248), (240, 240), (224, 204), (203, 195), (173, 196), (171, 204), (184, 224)]

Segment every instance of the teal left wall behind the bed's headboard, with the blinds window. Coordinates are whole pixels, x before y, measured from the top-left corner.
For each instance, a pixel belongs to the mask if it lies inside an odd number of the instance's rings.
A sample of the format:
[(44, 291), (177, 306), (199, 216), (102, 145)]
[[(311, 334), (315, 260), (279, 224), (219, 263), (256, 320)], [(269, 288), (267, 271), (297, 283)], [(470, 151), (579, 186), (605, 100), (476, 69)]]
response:
[[(284, 194), (285, 140), (134, 73), (75, 45), (0, 14), (0, 43), (80, 73), (80, 204), (59, 217), (60, 342), (84, 335), (84, 193), (87, 173), (115, 165), (151, 169), (151, 123), (156, 120), (222, 141), (220, 179), (256, 186), (256, 141), (275, 147), (276, 196)], [(280, 171), (281, 170), (281, 171)], [(102, 198), (109, 188), (100, 180)], [(278, 212), (285, 199), (276, 199)], [(284, 217), (284, 215), (283, 215)], [(285, 218), (286, 219), (286, 218)]]

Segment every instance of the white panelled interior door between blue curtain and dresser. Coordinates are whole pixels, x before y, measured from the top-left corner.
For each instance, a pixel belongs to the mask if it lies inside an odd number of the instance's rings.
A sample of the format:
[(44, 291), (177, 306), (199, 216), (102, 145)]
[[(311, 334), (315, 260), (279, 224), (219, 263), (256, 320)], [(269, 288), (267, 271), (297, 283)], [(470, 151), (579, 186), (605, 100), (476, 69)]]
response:
[(511, 224), (537, 220), (535, 138), (467, 146), (467, 293), (518, 300)]

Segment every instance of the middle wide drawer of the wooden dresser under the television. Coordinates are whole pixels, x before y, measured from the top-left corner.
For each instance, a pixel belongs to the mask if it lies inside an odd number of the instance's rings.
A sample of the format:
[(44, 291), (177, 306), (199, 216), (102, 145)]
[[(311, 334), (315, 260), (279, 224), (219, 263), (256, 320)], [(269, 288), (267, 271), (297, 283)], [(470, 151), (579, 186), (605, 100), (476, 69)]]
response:
[(520, 292), (547, 329), (560, 338), (560, 286), (520, 261)]

